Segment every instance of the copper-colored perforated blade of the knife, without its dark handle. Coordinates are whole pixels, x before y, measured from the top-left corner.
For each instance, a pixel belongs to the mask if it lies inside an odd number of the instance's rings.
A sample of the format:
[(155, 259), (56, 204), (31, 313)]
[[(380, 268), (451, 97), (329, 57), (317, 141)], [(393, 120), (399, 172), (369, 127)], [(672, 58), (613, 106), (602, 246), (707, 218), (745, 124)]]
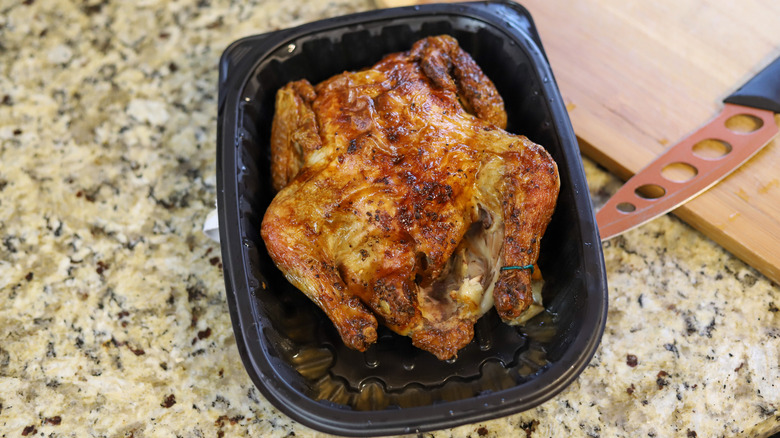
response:
[[(738, 115), (755, 117), (760, 127), (751, 132), (727, 128), (727, 121)], [(714, 119), (669, 148), (607, 201), (596, 214), (601, 240), (665, 214), (707, 190), (769, 143), (777, 132), (772, 111), (726, 103)], [(702, 156), (697, 145), (705, 140), (722, 142), (726, 153), (720, 157)], [(669, 174), (668, 166), (695, 172), (689, 173), (693, 174), (690, 179), (673, 181), (664, 176)]]

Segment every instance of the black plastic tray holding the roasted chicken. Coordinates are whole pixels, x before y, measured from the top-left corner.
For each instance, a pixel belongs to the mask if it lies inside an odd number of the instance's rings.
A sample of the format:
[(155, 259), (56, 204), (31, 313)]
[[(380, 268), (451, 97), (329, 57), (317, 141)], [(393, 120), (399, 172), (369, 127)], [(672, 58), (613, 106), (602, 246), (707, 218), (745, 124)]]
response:
[[(269, 138), (276, 90), (317, 83), (449, 34), (496, 84), (508, 131), (544, 145), (561, 193), (542, 240), (547, 312), (523, 328), (494, 311), (457, 360), (440, 362), (388, 330), (366, 353), (346, 348), (266, 253)], [(510, 2), (378, 10), (241, 39), (220, 61), (217, 134), (220, 239), (241, 359), (279, 410), (348, 436), (418, 433), (520, 412), (553, 397), (587, 366), (601, 339), (607, 284), (579, 149), (529, 13)]]

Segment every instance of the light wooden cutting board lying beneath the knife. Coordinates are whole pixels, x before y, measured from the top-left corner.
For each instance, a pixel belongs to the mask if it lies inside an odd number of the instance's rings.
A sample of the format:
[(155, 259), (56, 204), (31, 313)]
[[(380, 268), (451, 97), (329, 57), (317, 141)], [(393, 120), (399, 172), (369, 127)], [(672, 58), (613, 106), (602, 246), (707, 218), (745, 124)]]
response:
[[(624, 180), (713, 118), (726, 96), (780, 55), (778, 0), (520, 3), (541, 35), (582, 152)], [(780, 282), (780, 140), (673, 213)]]

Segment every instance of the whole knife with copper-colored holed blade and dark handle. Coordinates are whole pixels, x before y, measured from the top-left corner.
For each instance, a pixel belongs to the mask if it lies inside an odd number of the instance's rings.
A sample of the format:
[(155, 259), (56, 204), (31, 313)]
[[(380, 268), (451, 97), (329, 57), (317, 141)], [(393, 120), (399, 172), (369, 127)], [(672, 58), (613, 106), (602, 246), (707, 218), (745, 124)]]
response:
[(778, 132), (780, 57), (723, 102), (720, 114), (631, 177), (601, 207), (596, 222), (602, 241), (674, 210), (769, 143)]

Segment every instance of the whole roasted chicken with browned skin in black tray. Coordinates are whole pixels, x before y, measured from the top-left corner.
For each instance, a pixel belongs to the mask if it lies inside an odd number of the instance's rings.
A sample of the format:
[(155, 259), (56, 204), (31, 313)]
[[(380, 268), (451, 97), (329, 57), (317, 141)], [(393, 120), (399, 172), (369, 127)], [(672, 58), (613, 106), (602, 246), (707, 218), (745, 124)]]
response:
[(262, 237), (346, 345), (365, 350), (379, 322), (444, 360), (491, 307), (509, 324), (541, 309), (531, 282), (558, 169), (506, 122), (450, 36), (278, 91)]

